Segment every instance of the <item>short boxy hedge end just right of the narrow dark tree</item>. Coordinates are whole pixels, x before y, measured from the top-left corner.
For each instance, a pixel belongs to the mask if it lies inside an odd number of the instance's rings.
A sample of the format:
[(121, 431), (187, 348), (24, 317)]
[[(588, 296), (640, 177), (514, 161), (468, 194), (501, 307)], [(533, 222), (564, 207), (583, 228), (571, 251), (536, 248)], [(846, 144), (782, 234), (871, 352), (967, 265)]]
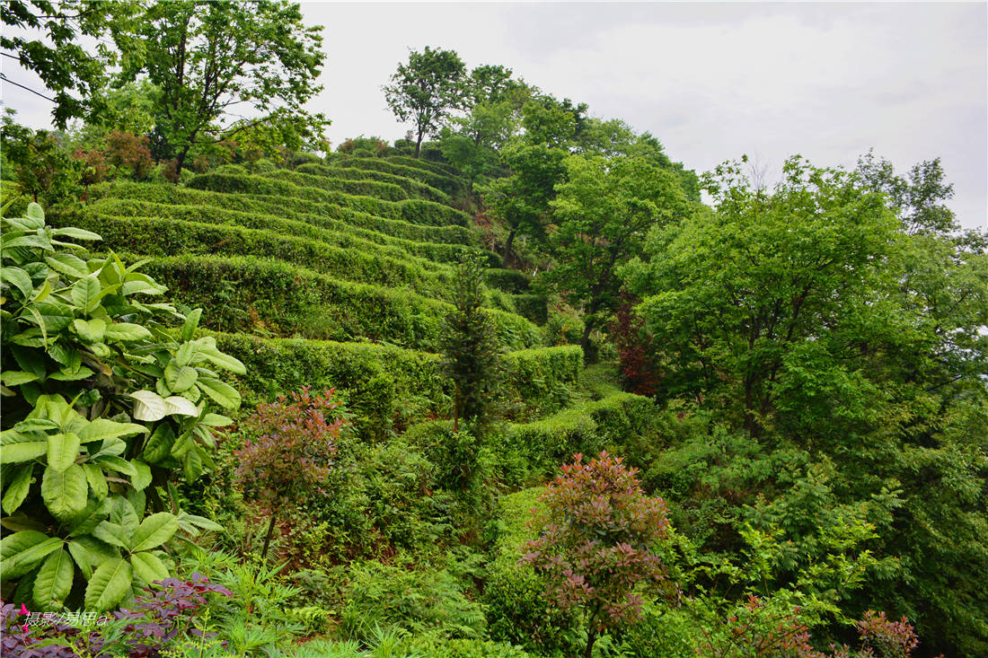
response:
[(583, 371), (583, 350), (578, 345), (525, 350), (509, 353), (505, 362), (512, 373), (510, 398), (529, 401), (518, 417), (541, 416), (569, 404)]

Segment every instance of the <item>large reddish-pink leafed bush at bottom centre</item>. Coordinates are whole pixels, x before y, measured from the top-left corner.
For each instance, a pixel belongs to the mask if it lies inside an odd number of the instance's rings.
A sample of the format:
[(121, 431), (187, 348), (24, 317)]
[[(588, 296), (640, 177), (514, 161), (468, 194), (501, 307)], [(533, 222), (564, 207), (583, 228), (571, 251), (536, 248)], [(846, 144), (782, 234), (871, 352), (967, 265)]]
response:
[(665, 583), (653, 547), (669, 522), (665, 502), (646, 496), (620, 457), (574, 459), (541, 497), (542, 532), (522, 562), (548, 576), (548, 596), (561, 610), (583, 612), (592, 645), (596, 632), (640, 617), (636, 587)]

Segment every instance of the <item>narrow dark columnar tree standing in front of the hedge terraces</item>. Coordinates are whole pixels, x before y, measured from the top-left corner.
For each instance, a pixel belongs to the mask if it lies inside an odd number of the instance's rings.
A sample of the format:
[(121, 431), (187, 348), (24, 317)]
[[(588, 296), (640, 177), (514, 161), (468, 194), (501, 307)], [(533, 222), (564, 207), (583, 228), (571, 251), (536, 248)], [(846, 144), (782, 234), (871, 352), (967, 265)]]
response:
[(459, 421), (482, 430), (491, 420), (493, 396), (500, 379), (501, 352), (497, 328), (484, 302), (484, 267), (465, 257), (456, 266), (455, 309), (446, 318), (443, 366), (453, 380), (453, 431)]

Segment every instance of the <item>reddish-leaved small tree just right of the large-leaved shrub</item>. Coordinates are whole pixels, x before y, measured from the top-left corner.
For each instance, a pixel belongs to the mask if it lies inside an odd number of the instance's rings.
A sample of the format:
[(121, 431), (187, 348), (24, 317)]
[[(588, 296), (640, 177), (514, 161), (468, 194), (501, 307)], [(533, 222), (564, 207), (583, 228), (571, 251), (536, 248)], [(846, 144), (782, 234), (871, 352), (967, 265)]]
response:
[(257, 436), (235, 452), (244, 495), (270, 505), (320, 490), (345, 425), (330, 420), (338, 406), (334, 390), (312, 395), (307, 386), (258, 406), (244, 423)]

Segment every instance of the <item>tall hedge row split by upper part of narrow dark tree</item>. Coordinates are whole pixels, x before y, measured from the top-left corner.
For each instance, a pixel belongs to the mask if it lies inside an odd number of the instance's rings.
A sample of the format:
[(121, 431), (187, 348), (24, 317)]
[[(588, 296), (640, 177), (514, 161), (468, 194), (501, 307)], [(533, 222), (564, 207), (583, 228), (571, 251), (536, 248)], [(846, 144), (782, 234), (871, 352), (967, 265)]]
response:
[[(144, 271), (167, 286), (176, 301), (209, 309), (204, 326), (223, 331), (365, 339), (432, 351), (443, 330), (442, 318), (453, 310), (451, 304), (408, 290), (339, 281), (252, 257), (155, 258)], [(509, 349), (539, 344), (538, 330), (525, 318), (493, 309), (490, 313)]]

